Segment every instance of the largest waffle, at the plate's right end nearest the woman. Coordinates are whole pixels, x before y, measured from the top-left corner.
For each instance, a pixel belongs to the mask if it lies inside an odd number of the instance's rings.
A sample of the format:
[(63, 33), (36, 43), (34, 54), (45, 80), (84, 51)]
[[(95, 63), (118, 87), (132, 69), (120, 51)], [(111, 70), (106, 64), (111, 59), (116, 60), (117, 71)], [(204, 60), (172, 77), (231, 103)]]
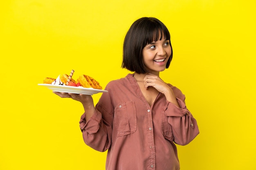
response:
[(102, 89), (101, 85), (99, 85), (99, 82), (87, 75), (79, 76), (79, 78), (77, 79), (77, 83), (78, 82), (81, 84), (81, 86), (85, 88)]

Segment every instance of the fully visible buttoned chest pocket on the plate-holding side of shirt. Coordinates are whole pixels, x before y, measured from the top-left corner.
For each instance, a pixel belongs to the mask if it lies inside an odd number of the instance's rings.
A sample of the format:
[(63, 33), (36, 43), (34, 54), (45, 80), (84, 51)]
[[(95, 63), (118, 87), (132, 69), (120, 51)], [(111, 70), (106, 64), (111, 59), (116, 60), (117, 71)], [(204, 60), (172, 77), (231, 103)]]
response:
[(115, 107), (113, 123), (117, 129), (117, 136), (134, 133), (137, 129), (135, 103), (129, 101), (118, 104)]

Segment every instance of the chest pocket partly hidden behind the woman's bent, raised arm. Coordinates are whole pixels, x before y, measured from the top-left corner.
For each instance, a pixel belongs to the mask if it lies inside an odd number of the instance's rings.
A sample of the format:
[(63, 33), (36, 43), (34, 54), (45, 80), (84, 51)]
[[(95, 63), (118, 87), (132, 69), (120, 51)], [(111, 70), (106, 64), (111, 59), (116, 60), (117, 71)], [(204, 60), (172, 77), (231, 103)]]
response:
[(165, 139), (168, 139), (169, 141), (173, 142), (173, 130), (171, 127), (171, 124), (168, 123), (168, 119), (170, 119), (168, 116), (164, 114), (164, 109), (161, 111), (162, 116), (162, 134), (164, 135)]

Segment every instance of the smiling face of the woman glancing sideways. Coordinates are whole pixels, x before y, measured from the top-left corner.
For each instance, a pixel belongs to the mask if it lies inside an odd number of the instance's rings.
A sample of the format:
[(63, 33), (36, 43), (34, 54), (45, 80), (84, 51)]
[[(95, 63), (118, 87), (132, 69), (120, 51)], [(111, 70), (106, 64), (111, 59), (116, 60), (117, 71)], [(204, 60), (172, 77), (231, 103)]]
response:
[(170, 41), (161, 40), (147, 44), (143, 50), (143, 63), (150, 73), (159, 74), (166, 68), (166, 63), (171, 56)]

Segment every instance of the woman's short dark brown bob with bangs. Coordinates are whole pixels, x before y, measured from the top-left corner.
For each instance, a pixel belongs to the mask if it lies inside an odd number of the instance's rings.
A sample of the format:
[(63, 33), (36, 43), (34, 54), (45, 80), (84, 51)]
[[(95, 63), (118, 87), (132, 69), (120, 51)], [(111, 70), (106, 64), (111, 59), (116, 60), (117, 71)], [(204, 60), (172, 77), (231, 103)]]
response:
[[(160, 34), (159, 34), (160, 31)], [(164, 34), (164, 35), (163, 35)], [(138, 74), (147, 73), (147, 68), (143, 63), (143, 48), (159, 39), (169, 40), (171, 46), (171, 36), (166, 26), (154, 17), (142, 17), (136, 20), (128, 30), (124, 39), (122, 68), (126, 68)], [(167, 61), (166, 68), (169, 67), (173, 58), (173, 48), (171, 46), (171, 56)]]

